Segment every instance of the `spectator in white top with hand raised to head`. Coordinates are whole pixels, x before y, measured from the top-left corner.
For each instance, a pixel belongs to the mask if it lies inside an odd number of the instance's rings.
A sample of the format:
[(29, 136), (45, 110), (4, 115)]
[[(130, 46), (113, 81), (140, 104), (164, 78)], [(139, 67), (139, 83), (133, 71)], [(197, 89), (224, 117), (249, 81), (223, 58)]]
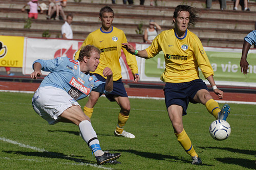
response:
[(150, 20), (150, 27), (147, 28), (144, 32), (144, 42), (152, 43), (153, 39), (158, 35), (158, 31), (161, 30), (161, 27), (154, 21)]

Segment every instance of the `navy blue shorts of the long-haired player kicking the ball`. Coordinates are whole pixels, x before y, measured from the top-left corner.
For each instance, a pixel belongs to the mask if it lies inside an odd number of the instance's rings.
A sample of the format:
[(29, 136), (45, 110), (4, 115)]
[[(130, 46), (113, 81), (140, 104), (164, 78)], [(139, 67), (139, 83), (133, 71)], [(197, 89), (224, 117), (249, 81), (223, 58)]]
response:
[(163, 89), (166, 108), (170, 105), (180, 105), (183, 108), (183, 115), (186, 115), (188, 103), (197, 103), (193, 98), (201, 89), (208, 90), (201, 79), (185, 83), (166, 83)]

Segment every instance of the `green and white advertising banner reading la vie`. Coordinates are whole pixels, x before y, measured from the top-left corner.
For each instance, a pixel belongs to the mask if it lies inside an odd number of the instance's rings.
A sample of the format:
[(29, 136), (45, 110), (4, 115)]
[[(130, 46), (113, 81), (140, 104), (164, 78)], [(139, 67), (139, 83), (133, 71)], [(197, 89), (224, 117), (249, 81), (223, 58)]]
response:
[[(136, 49), (145, 49), (145, 46), (148, 46), (148, 44), (136, 44)], [(214, 69), (214, 78), (218, 85), (256, 87), (256, 50), (248, 52), (247, 61), (251, 65), (249, 65), (249, 74), (247, 75), (243, 75), (240, 70), (242, 49), (204, 47), (204, 50)], [(160, 52), (154, 58), (141, 60), (141, 66), (141, 81), (161, 82), (160, 76), (165, 69), (163, 52)], [(205, 80), (201, 71), (200, 78)], [(205, 82), (209, 84), (207, 80)]]

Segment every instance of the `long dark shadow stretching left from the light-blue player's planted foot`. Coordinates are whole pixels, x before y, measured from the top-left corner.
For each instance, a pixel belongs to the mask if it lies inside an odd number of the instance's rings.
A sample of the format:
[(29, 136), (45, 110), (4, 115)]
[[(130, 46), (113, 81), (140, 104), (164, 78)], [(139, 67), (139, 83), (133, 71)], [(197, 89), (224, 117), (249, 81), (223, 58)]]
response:
[[(74, 156), (70, 157), (68, 155), (62, 154), (62, 153), (57, 153), (57, 152), (21, 152), (21, 151), (3, 151), (8, 154), (21, 154), (25, 156), (37, 156), (37, 157), (42, 157), (42, 158), (58, 158), (58, 159), (66, 159), (66, 160), (71, 160), (75, 161), (77, 163), (90, 163), (90, 164), (95, 164), (96, 162), (92, 162), (86, 159), (78, 159), (74, 157), (82, 157), (82, 156)], [(95, 160), (96, 161), (96, 160)]]

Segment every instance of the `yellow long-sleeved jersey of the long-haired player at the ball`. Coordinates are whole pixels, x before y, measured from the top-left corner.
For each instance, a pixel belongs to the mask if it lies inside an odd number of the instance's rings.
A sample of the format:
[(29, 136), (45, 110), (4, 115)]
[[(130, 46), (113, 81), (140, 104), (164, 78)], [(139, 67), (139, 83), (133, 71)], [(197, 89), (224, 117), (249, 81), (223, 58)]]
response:
[(186, 30), (183, 38), (178, 38), (174, 29), (163, 31), (145, 50), (148, 58), (153, 58), (163, 51), (163, 82), (183, 83), (199, 79), (199, 67), (205, 78), (214, 75), (201, 41), (189, 30)]

